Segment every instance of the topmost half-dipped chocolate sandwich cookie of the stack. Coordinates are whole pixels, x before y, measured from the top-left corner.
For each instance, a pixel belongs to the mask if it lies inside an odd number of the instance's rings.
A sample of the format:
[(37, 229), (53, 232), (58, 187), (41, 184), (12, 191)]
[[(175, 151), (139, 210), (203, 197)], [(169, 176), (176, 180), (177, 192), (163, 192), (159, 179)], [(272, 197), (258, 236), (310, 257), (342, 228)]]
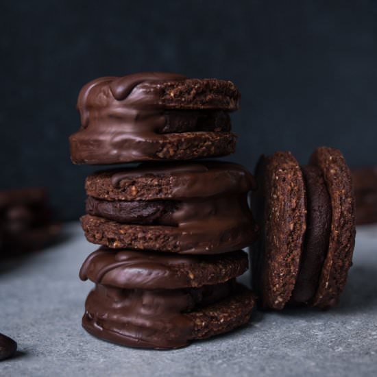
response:
[(71, 159), (104, 165), (231, 154), (229, 112), (239, 98), (230, 81), (160, 72), (100, 77), (77, 99), (81, 128), (70, 137)]

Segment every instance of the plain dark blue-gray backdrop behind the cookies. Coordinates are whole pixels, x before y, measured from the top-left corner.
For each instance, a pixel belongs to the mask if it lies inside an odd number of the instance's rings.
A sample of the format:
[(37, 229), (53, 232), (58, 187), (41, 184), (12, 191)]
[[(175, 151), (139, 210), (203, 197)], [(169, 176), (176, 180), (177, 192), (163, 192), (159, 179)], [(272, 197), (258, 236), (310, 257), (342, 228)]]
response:
[[(331, 3), (331, 5), (329, 5)], [(236, 160), (319, 145), (377, 162), (377, 4), (358, 1), (1, 1), (1, 189), (47, 186), (62, 219), (83, 212), (68, 136), (83, 84), (177, 71), (229, 79), (242, 109)]]

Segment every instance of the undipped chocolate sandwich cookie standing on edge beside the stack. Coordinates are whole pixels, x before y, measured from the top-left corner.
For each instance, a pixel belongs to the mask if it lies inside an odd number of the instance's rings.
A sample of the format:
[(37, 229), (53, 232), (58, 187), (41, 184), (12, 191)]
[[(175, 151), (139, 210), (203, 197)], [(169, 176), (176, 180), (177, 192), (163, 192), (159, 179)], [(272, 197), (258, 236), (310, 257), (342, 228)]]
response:
[(253, 287), (264, 308), (337, 304), (354, 250), (350, 169), (337, 149), (316, 149), (307, 166), (289, 152), (261, 158), (254, 215), (263, 227), (252, 250)]

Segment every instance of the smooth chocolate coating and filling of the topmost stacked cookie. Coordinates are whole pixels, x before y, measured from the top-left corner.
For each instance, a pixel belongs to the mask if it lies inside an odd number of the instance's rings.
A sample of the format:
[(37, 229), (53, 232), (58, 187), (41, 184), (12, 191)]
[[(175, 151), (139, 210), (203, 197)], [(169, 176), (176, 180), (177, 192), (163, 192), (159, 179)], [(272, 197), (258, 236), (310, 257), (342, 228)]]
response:
[[(162, 93), (162, 84), (158, 82), (183, 82), (185, 79), (171, 73), (140, 73), (100, 77), (86, 84), (77, 100), (82, 125), (70, 137), (73, 162), (110, 164), (149, 160), (156, 158), (159, 152), (161, 158), (166, 158), (169, 151), (161, 150), (162, 143), (178, 143), (180, 139), (182, 144), (186, 133), (230, 135), (230, 117), (221, 108), (212, 106), (197, 110), (189, 104), (180, 110), (167, 108), (164, 102), (169, 101), (161, 100), (166, 93)], [(174, 101), (174, 92), (170, 95)], [(174, 135), (174, 140), (169, 134)], [(191, 141), (191, 147), (198, 142), (204, 143), (203, 140)]]

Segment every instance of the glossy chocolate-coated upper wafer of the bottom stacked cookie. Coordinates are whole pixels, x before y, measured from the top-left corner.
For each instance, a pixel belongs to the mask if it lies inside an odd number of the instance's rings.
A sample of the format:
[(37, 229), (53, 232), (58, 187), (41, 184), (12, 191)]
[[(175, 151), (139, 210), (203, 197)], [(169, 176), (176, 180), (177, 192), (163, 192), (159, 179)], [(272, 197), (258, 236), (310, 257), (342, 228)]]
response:
[(226, 282), (247, 266), (242, 251), (197, 257), (100, 248), (86, 258), (80, 278), (125, 289), (178, 289)]

